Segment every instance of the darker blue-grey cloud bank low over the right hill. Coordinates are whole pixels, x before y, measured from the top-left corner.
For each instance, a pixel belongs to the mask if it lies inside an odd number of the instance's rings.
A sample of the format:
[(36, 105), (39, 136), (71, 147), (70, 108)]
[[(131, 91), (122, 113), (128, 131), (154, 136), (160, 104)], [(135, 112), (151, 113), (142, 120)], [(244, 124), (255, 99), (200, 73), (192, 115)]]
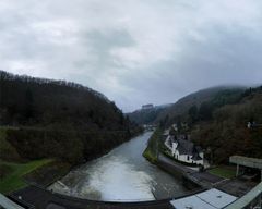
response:
[[(143, 89), (130, 98), (130, 102), (136, 98), (140, 104), (146, 101), (159, 104), (205, 87), (260, 84), (261, 54), (262, 40), (245, 32), (217, 28), (209, 33), (204, 42), (188, 38), (178, 59), (159, 62), (145, 74), (126, 77), (126, 85)], [(151, 74), (155, 69), (159, 70), (157, 76)]]

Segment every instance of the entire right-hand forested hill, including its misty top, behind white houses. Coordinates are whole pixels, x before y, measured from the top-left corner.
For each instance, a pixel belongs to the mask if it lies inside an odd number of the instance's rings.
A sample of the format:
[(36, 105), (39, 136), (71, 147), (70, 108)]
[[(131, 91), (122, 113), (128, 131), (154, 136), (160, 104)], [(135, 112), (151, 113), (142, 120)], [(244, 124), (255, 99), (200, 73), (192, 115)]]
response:
[(209, 150), (211, 162), (226, 163), (233, 155), (262, 158), (262, 86), (202, 90), (175, 107), (160, 125), (177, 124), (180, 134)]

